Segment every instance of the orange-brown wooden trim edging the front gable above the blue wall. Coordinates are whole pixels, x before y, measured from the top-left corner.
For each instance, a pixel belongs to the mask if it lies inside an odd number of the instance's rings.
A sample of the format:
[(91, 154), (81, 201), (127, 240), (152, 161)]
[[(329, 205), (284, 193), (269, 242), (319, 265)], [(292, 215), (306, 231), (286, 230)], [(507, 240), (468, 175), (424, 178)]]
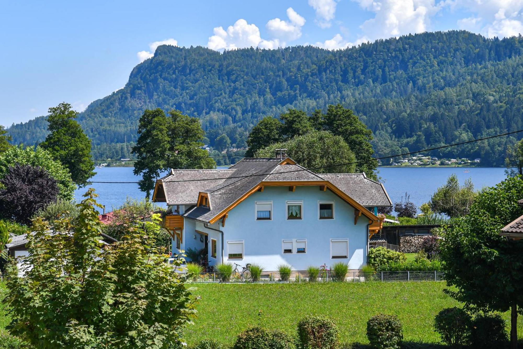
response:
[(217, 222), (223, 215), (231, 211), (243, 200), (247, 199), (251, 194), (255, 193), (260, 189), (261, 187), (290, 187), (290, 186), (325, 186), (329, 190), (331, 190), (333, 193), (338, 195), (338, 197), (342, 198), (345, 202), (347, 202), (349, 205), (353, 206), (356, 210), (359, 210), (363, 215), (365, 215), (369, 220), (372, 222), (378, 222), (378, 224), (381, 225), (380, 218), (375, 216), (372, 212), (367, 210), (365, 207), (360, 205), (358, 202), (356, 202), (353, 198), (349, 197), (349, 195), (345, 194), (343, 191), (338, 189), (334, 184), (332, 184), (329, 181), (262, 181), (259, 182), (255, 187), (253, 187), (251, 190), (247, 191), (245, 194), (243, 194), (240, 198), (236, 199), (232, 204), (230, 204), (227, 208), (222, 210), (220, 213), (215, 215), (209, 220), (209, 223), (213, 224)]

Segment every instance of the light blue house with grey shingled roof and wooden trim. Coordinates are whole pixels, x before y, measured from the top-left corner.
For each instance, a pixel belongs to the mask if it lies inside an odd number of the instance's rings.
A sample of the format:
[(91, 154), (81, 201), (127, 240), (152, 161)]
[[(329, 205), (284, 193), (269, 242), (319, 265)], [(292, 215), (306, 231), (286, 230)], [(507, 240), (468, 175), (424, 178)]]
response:
[(226, 170), (172, 170), (153, 201), (166, 202), (173, 254), (205, 249), (211, 265), (294, 270), (344, 261), (360, 269), (391, 201), (365, 173), (316, 174), (290, 158), (245, 158)]

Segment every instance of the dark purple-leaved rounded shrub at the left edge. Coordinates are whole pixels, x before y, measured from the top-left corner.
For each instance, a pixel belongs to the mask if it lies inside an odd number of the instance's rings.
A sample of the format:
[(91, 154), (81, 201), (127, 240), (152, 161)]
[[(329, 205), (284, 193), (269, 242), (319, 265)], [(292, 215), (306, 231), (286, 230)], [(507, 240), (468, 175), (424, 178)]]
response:
[(46, 170), (19, 164), (8, 168), (0, 188), (0, 215), (22, 224), (30, 223), (33, 214), (56, 201), (59, 193)]

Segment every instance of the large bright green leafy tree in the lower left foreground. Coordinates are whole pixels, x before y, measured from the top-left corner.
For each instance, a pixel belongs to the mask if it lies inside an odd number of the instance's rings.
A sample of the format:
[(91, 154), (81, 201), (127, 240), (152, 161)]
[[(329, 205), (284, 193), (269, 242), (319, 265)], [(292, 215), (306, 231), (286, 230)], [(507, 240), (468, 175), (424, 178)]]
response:
[(9, 269), (9, 331), (45, 349), (181, 347), (195, 297), (177, 272), (183, 259), (166, 264), (154, 246), (160, 215), (126, 222), (122, 241), (104, 246), (95, 195), (87, 191), (75, 221), (33, 224), (22, 260), (32, 269)]

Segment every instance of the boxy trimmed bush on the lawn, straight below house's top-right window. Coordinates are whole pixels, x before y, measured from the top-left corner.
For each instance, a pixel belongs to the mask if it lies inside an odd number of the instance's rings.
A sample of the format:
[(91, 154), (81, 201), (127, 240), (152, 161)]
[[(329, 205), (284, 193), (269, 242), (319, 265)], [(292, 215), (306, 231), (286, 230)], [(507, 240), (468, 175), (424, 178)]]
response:
[(339, 347), (338, 328), (331, 318), (310, 315), (298, 322), (298, 341), (301, 349), (335, 349)]

